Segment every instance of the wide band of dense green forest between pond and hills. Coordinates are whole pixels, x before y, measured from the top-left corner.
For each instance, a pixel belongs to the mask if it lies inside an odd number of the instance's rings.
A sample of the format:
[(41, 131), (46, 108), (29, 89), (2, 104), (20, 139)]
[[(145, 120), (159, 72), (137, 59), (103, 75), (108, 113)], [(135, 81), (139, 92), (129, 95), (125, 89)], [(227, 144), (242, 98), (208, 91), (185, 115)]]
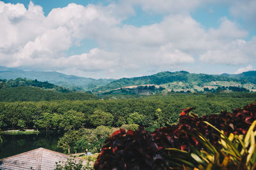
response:
[(252, 92), (169, 94), (131, 99), (89, 101), (1, 102), (1, 129), (79, 129), (81, 127), (120, 127), (138, 124), (163, 127), (177, 122), (180, 110), (194, 107), (197, 115), (231, 111), (252, 103)]

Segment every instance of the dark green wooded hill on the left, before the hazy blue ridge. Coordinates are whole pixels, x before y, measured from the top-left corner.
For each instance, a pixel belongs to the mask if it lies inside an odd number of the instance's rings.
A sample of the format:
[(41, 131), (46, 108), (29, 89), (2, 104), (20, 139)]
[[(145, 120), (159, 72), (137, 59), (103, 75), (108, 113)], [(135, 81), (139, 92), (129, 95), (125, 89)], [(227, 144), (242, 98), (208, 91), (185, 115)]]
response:
[(99, 97), (87, 92), (74, 92), (48, 82), (17, 78), (0, 80), (0, 101), (89, 100)]

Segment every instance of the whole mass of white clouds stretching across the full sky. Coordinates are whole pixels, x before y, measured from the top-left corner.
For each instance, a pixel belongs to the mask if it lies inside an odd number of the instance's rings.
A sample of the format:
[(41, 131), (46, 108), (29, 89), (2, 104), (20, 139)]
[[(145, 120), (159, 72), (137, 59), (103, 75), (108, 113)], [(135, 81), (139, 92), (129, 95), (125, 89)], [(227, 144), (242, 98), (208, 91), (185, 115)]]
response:
[[(222, 18), (217, 29), (206, 30), (188, 13), (202, 4), (193, 1), (120, 1), (108, 6), (68, 4), (44, 16), (41, 6), (0, 1), (0, 65), (58, 71), (113, 73), (145, 68), (180, 67), (200, 61), (246, 64), (256, 54), (256, 38), (243, 40), (247, 31)], [(157, 2), (157, 3), (156, 3)], [(163, 21), (135, 27), (122, 21), (135, 11), (170, 11)], [(172, 13), (172, 14), (170, 14)], [(180, 14), (182, 13), (182, 14)], [(93, 39), (97, 48), (67, 56), (72, 46)]]

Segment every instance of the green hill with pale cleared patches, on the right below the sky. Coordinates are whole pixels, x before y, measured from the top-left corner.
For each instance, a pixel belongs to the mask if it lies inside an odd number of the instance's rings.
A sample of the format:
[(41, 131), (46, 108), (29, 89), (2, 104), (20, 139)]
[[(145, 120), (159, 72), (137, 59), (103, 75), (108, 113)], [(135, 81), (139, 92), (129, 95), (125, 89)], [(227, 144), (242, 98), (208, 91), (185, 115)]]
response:
[[(169, 92), (215, 92), (216, 90), (255, 91), (256, 85), (254, 83), (255, 81), (253, 81), (255, 79), (256, 75), (252, 73), (226, 76), (226, 74), (211, 75), (188, 73), (187, 71), (166, 71), (150, 76), (121, 78), (108, 83), (108, 85), (96, 87), (93, 89), (93, 92), (109, 93), (120, 90), (123, 90), (124, 92), (124, 89), (129, 89), (127, 88), (129, 86), (141, 85), (143, 85), (143, 87), (145, 87), (145, 85), (155, 85), (156, 87), (157, 85), (161, 90), (166, 89)], [(131, 89), (138, 89), (138, 87), (130, 88), (130, 91)]]

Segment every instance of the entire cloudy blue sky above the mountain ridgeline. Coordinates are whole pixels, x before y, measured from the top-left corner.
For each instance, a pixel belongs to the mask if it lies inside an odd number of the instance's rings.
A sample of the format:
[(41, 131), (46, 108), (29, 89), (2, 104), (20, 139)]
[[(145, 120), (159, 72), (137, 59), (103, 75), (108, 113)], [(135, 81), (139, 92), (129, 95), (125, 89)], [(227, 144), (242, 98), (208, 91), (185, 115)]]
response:
[(256, 67), (255, 0), (0, 1), (0, 66), (91, 78)]

